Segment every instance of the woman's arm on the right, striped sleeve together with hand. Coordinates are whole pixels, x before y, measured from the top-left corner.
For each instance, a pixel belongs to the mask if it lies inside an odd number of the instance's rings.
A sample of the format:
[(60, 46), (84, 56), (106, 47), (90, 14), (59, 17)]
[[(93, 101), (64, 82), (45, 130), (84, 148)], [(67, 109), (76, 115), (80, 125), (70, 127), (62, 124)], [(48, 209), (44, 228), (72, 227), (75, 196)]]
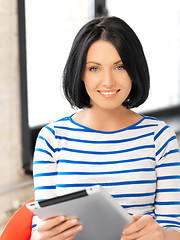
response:
[(173, 131), (162, 126), (154, 136), (157, 190), (155, 219), (134, 215), (122, 239), (180, 240), (180, 154)]

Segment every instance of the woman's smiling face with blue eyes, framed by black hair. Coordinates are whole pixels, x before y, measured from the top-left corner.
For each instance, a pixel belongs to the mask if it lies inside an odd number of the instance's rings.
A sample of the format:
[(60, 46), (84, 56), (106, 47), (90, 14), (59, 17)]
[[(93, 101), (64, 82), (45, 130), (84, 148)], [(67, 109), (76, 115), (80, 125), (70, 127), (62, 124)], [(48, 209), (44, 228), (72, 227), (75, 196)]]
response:
[(105, 40), (90, 46), (83, 81), (92, 107), (106, 110), (124, 107), (132, 87), (117, 50)]

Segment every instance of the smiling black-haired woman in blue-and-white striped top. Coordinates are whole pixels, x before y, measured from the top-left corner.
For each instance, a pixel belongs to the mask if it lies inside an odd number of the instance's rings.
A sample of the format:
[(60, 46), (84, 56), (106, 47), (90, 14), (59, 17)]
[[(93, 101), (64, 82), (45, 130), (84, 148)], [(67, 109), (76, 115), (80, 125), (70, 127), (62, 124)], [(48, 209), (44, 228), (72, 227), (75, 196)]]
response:
[[(121, 239), (180, 239), (180, 155), (164, 122), (131, 109), (148, 97), (149, 71), (134, 31), (116, 17), (88, 22), (67, 60), (63, 88), (82, 109), (44, 127), (34, 154), (36, 200), (102, 185), (134, 222)], [(83, 226), (33, 220), (32, 239), (73, 239)]]

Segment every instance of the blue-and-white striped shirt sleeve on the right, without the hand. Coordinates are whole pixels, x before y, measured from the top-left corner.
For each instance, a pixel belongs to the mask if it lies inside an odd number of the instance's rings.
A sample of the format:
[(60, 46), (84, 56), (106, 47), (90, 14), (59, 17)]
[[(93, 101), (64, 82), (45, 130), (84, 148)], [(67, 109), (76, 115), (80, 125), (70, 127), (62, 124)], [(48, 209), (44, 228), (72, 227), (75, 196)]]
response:
[(180, 231), (180, 154), (173, 130), (163, 125), (154, 136), (157, 191), (155, 216), (164, 228)]

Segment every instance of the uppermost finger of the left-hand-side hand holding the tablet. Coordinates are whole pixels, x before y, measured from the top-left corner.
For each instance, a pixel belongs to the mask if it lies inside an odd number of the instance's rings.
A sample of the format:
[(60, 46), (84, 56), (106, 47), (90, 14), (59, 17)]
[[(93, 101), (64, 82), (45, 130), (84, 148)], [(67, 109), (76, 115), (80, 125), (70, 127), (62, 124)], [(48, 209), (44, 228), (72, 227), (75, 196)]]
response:
[(41, 221), (39, 223), (39, 225), (37, 226), (37, 231), (41, 232), (41, 231), (48, 231), (50, 229), (52, 229), (53, 227), (59, 225), (60, 223), (65, 221), (65, 216), (58, 216), (58, 217), (54, 217), (54, 218), (50, 218), (44, 221)]

